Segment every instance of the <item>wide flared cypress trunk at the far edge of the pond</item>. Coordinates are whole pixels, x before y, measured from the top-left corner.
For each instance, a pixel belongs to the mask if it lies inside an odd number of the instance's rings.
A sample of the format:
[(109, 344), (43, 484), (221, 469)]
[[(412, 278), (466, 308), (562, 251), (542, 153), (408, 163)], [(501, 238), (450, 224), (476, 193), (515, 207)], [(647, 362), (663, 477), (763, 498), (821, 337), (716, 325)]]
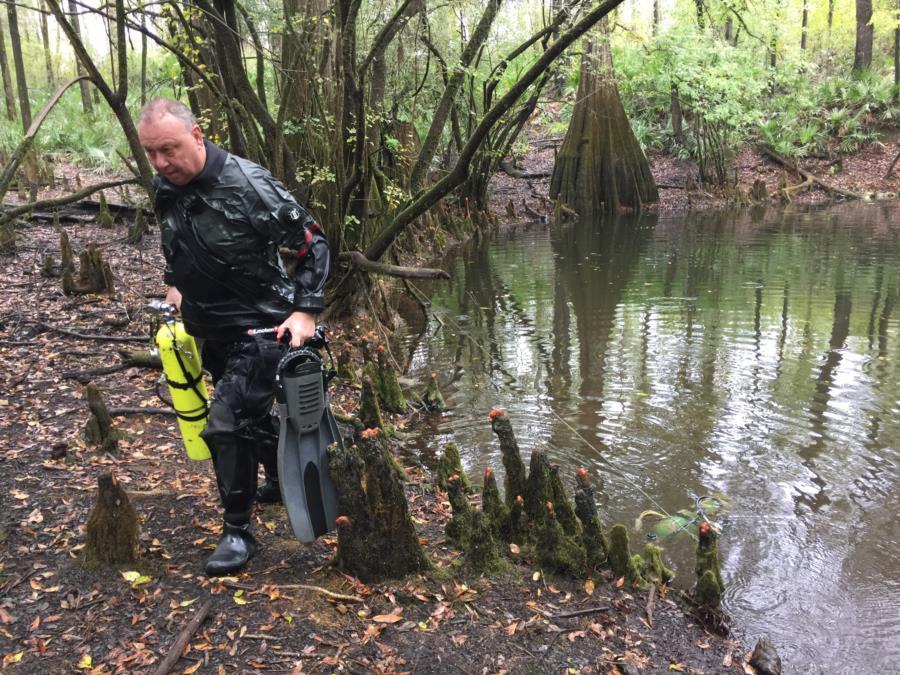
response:
[(550, 196), (581, 216), (640, 211), (659, 199), (619, 98), (605, 19), (585, 45), (578, 98), (553, 168)]

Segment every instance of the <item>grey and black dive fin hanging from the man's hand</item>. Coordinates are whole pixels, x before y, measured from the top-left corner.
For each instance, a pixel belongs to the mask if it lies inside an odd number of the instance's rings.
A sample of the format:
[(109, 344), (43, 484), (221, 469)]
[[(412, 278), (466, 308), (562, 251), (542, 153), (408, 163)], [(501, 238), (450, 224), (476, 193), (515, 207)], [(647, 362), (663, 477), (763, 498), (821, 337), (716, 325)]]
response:
[(278, 370), (278, 481), (288, 520), (304, 543), (334, 529), (337, 492), (328, 473), (328, 448), (341, 443), (325, 390), (321, 357), (290, 352)]

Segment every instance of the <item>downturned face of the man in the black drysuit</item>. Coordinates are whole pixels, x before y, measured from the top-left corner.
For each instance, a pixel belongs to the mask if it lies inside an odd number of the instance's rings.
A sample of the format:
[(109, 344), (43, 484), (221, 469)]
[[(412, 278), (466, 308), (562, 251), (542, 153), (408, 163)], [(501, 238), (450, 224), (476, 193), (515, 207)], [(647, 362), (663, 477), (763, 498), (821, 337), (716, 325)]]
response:
[(203, 170), (206, 148), (196, 124), (188, 128), (177, 117), (164, 114), (143, 122), (138, 137), (153, 168), (173, 185), (187, 185)]

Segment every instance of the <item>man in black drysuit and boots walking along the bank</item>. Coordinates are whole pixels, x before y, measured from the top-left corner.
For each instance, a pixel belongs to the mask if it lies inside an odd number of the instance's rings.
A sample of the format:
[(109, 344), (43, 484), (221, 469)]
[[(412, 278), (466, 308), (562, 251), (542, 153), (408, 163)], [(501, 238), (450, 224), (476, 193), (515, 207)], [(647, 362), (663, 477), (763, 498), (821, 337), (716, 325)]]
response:
[[(280, 499), (275, 371), (290, 333), (298, 347), (324, 307), (328, 243), (310, 215), (261, 166), (204, 140), (191, 111), (158, 99), (138, 119), (138, 136), (157, 171), (156, 213), (166, 258), (166, 301), (202, 343), (215, 393), (203, 439), (212, 454), (224, 528), (206, 563), (210, 576), (241, 569), (256, 551), (253, 499)], [(279, 247), (294, 252), (288, 272)], [(248, 329), (277, 326), (274, 337)], [(258, 463), (266, 483), (257, 492)]]

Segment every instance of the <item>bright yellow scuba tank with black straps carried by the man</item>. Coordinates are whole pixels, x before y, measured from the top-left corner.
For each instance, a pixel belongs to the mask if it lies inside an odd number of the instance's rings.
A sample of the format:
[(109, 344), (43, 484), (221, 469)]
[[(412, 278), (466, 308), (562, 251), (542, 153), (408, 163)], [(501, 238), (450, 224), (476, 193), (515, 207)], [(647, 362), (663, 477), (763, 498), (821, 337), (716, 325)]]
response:
[(173, 312), (161, 318), (154, 342), (159, 349), (185, 450), (190, 459), (209, 459), (209, 448), (200, 438), (209, 417), (209, 395), (203, 381), (200, 350)]

